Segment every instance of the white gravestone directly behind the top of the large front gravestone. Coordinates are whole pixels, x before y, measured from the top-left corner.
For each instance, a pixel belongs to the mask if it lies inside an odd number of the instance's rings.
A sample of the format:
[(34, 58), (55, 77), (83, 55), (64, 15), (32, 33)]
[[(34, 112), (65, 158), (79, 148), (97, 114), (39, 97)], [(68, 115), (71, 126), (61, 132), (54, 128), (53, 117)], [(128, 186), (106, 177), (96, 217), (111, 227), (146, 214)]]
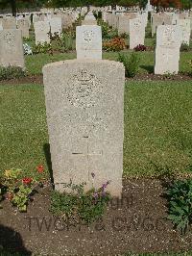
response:
[(102, 59), (102, 29), (97, 25), (76, 27), (77, 59)]

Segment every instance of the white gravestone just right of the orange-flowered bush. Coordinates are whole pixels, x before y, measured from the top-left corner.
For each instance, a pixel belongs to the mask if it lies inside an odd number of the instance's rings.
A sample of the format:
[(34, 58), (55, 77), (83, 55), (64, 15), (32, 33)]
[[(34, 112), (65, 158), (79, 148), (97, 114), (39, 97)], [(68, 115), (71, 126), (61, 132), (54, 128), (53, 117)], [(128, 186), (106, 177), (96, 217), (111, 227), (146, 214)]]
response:
[(130, 49), (133, 49), (138, 44), (144, 45), (145, 39), (145, 24), (139, 18), (130, 20)]

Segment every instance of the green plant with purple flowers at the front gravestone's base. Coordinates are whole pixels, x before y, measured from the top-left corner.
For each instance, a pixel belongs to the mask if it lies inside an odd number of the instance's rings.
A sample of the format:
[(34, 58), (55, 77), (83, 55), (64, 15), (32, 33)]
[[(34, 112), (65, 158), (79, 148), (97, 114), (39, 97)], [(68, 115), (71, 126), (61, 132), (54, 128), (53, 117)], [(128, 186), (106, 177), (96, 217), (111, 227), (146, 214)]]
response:
[(83, 223), (91, 223), (101, 218), (110, 198), (106, 191), (108, 182), (100, 189), (92, 189), (89, 192), (84, 192), (84, 185), (65, 184), (64, 188), (70, 189), (71, 193), (53, 192), (50, 208), (52, 214)]

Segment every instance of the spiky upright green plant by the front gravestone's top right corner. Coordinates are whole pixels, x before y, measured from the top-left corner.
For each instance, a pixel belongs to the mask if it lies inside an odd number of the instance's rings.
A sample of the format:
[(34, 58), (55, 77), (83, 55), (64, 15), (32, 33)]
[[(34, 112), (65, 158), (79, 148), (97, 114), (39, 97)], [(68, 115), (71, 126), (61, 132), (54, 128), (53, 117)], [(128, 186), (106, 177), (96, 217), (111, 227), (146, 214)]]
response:
[(132, 52), (131, 56), (128, 57), (123, 53), (119, 53), (118, 61), (124, 64), (126, 77), (134, 77), (138, 73), (138, 67), (140, 63), (138, 54)]

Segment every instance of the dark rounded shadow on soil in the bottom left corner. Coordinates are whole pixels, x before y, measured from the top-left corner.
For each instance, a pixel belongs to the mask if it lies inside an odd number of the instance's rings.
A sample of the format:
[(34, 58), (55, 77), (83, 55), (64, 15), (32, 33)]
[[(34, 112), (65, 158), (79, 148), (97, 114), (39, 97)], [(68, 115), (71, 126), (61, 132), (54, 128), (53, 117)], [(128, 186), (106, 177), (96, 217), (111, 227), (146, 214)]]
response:
[(21, 235), (10, 227), (0, 225), (0, 255), (32, 255), (23, 244)]

